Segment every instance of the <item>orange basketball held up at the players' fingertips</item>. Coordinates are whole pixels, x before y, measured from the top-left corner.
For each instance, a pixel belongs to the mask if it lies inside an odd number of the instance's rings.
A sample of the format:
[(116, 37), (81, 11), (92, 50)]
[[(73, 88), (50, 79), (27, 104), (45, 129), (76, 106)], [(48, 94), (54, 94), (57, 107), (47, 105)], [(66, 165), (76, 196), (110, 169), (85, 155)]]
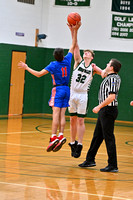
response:
[(81, 21), (81, 16), (78, 13), (72, 12), (67, 16), (67, 21), (70, 25), (76, 25), (76, 22)]

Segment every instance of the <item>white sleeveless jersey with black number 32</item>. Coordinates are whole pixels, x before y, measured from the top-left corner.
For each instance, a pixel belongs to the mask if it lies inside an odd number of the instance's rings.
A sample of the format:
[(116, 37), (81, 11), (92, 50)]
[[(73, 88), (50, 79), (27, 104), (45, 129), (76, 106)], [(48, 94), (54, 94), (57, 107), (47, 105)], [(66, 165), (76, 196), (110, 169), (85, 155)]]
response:
[(84, 60), (73, 70), (71, 78), (71, 91), (85, 93), (90, 89), (93, 79), (91, 65), (85, 67)]

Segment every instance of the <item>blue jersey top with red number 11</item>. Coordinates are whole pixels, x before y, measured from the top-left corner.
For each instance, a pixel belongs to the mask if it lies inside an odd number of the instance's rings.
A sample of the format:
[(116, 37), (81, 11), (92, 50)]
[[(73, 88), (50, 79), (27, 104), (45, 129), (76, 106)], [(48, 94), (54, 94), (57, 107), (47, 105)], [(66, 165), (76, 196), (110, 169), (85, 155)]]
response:
[(53, 85), (68, 85), (70, 79), (72, 53), (64, 57), (63, 61), (53, 61), (44, 69), (52, 76)]

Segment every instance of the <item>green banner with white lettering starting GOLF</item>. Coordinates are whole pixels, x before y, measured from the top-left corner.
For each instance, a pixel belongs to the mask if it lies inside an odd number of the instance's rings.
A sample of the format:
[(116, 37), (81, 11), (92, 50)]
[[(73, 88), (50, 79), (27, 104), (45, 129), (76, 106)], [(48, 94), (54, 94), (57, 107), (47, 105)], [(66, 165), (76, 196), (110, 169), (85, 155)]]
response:
[(133, 39), (133, 16), (112, 15), (111, 37)]

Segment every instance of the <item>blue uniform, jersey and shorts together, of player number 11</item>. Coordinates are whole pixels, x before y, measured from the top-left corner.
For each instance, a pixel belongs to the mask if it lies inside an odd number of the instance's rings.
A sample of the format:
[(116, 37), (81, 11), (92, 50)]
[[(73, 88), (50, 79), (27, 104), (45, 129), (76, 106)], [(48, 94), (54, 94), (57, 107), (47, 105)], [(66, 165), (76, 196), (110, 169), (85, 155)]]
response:
[(53, 87), (49, 106), (64, 108), (69, 106), (70, 88), (68, 86), (70, 79), (72, 53), (68, 53), (61, 62), (51, 62), (45, 70), (52, 76)]

